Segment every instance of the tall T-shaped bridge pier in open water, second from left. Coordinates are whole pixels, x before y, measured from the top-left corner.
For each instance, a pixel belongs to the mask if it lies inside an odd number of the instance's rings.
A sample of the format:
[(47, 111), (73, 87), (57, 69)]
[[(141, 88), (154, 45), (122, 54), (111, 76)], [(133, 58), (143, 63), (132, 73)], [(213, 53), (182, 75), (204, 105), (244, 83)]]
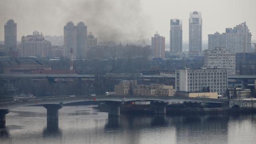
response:
[(59, 128), (59, 109), (61, 104), (44, 104), (47, 109), (47, 130), (58, 130)]

